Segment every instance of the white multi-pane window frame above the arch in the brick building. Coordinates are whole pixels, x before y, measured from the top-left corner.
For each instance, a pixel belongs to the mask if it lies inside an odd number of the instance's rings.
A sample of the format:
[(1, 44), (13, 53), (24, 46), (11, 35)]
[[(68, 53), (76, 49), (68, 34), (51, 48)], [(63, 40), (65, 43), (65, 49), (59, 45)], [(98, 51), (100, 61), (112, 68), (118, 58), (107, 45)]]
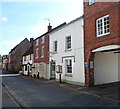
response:
[[(106, 17), (109, 17), (109, 32), (107, 32), (107, 33), (105, 33), (105, 24), (104, 24), (104, 18), (106, 18)], [(100, 21), (100, 20), (102, 20), (102, 34), (98, 34), (98, 21)], [(109, 15), (106, 15), (106, 16), (103, 16), (103, 17), (101, 17), (101, 18), (99, 18), (99, 19), (97, 19), (96, 20), (96, 33), (97, 33), (97, 37), (101, 37), (101, 36), (105, 36), (105, 35), (108, 35), (108, 34), (110, 34), (110, 16)]]

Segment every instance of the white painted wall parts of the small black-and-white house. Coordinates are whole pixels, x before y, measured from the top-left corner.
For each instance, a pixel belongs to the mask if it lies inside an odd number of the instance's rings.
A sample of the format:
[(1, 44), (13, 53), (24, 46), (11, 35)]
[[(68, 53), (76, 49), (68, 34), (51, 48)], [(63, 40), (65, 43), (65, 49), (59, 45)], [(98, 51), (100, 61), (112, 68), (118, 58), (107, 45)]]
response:
[(33, 54), (31, 54), (31, 60), (30, 60), (30, 55), (26, 56), (26, 61), (25, 61), (25, 56), (23, 56), (23, 65), (27, 65), (27, 71), (25, 70), (25, 66), (23, 67), (24, 75), (28, 75), (28, 66), (29, 66), (29, 72), (31, 72), (30, 65), (28, 63), (33, 64)]

